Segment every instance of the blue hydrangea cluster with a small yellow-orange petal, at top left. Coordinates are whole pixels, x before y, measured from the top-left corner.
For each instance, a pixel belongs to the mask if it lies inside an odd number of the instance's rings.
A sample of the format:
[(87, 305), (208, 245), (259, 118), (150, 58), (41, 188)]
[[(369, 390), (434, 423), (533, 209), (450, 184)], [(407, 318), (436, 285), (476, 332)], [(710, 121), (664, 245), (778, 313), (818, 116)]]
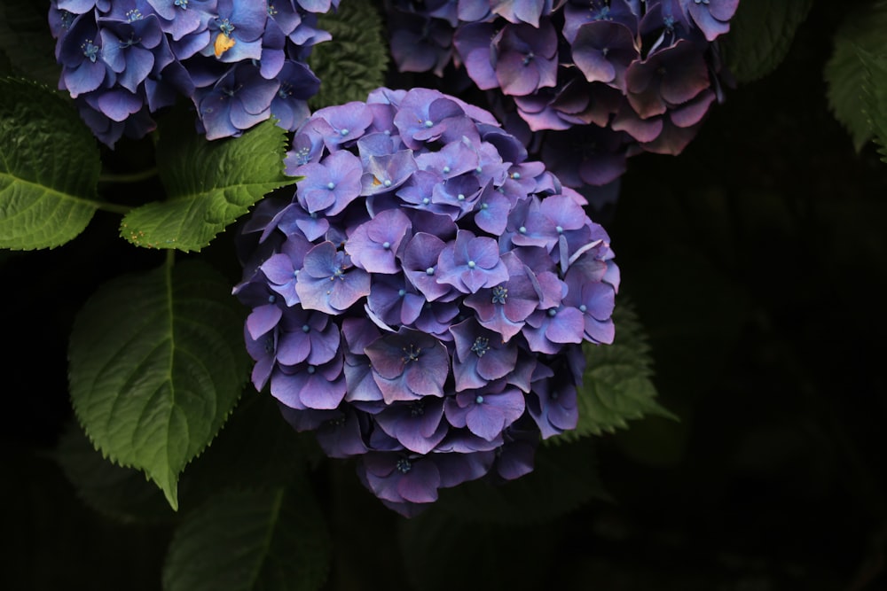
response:
[(293, 130), (320, 81), (305, 60), (338, 0), (52, 0), (59, 88), (105, 144), (145, 136), (184, 96), (209, 139), (271, 115)]

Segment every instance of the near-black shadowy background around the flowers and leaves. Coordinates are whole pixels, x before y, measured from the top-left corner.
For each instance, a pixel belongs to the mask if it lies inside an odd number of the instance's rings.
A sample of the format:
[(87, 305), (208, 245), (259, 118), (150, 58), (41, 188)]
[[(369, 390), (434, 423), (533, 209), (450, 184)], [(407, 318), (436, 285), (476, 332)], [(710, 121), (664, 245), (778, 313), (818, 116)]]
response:
[[(855, 153), (828, 111), (833, 12), (816, 3), (777, 71), (728, 90), (686, 152), (632, 158), (603, 218), (680, 422), (596, 441), (608, 499), (542, 525), (457, 523), (439, 546), (401, 548), (434, 515), (404, 525), (327, 464), (315, 474), (339, 499), (329, 588), (887, 588), (887, 164), (873, 145)], [(170, 526), (99, 515), (51, 457), (71, 419), (76, 311), (162, 256), (116, 224), (99, 213), (68, 245), (0, 253), (3, 588), (160, 585)]]

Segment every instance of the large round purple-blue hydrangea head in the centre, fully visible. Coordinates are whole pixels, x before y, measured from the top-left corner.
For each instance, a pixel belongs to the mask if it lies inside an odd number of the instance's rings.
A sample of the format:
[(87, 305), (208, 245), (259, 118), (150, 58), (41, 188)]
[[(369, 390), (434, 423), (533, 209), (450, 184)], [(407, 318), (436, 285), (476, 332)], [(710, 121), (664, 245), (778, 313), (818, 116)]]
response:
[(527, 158), (479, 107), (376, 89), (296, 131), (294, 195), (243, 226), (256, 389), (404, 515), (530, 472), (577, 425), (581, 344), (613, 339), (607, 233)]

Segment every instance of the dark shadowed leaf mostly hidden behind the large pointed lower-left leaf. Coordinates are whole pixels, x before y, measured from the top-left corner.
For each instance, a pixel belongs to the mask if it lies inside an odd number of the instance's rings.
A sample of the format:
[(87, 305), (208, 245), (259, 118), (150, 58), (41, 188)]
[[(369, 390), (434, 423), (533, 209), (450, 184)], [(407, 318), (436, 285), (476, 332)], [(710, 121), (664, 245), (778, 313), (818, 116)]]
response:
[(65, 425), (52, 456), (82, 502), (106, 517), (121, 523), (175, 517), (161, 490), (144, 473), (108, 462), (75, 420)]

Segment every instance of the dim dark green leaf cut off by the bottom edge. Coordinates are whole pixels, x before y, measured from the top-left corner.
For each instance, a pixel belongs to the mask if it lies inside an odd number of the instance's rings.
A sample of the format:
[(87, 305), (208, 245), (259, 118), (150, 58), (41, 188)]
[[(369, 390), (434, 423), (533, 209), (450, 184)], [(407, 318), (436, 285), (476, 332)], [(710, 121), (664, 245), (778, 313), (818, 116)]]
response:
[(313, 591), (326, 581), (329, 533), (310, 487), (224, 491), (184, 518), (164, 591)]

